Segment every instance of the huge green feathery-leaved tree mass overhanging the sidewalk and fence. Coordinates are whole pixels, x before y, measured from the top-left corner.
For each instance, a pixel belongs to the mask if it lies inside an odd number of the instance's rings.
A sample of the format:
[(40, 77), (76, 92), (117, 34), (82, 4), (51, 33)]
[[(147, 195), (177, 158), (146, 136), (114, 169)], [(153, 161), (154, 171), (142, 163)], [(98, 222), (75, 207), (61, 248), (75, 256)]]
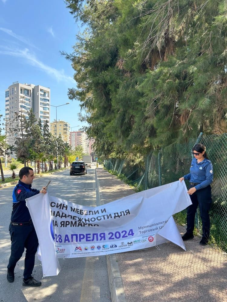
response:
[(226, 131), (226, 2), (65, 0), (86, 25), (71, 60), (80, 101), (108, 158)]

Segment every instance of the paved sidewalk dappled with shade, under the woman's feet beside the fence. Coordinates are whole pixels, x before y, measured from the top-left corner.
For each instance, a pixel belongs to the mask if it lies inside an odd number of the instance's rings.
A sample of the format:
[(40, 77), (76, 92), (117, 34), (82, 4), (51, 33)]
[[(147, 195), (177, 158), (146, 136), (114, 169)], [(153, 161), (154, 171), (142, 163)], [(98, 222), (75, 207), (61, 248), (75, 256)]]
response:
[[(135, 192), (102, 168), (96, 169), (100, 204)], [(179, 226), (179, 232), (185, 228)], [(201, 238), (185, 252), (169, 242), (107, 256), (112, 302), (227, 302), (227, 256)]]

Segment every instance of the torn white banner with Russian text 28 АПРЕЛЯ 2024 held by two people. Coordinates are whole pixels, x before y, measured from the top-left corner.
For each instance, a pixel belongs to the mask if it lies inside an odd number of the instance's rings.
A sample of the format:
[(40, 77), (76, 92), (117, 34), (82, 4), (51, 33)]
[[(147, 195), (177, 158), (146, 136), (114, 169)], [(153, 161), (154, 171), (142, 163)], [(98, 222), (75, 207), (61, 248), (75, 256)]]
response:
[(48, 194), (27, 199), (46, 276), (58, 274), (57, 258), (128, 252), (167, 241), (186, 250), (172, 215), (190, 204), (185, 182), (179, 181), (98, 207)]

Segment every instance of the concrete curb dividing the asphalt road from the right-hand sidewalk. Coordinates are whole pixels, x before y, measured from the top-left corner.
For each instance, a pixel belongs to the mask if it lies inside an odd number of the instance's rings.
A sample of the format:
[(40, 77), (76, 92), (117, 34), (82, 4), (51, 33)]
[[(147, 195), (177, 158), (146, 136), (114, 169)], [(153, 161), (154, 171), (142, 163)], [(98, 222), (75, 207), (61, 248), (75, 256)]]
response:
[[(100, 168), (95, 168), (95, 180), (97, 182), (98, 198), (100, 204), (103, 204), (100, 198), (99, 179), (97, 176), (96, 169), (100, 169)], [(112, 302), (126, 302), (124, 286), (120, 275), (120, 270), (117, 264), (117, 255), (110, 254), (107, 255), (106, 258), (107, 258), (107, 271), (108, 271), (108, 278), (109, 278), (111, 300)]]

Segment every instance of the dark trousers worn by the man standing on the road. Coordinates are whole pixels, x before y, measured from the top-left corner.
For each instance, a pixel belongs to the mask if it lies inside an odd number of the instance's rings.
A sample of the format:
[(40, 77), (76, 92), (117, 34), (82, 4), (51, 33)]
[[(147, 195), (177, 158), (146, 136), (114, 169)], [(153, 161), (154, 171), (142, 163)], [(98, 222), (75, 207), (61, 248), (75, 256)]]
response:
[(26, 226), (12, 226), (10, 224), (9, 233), (11, 237), (11, 255), (7, 268), (14, 271), (16, 263), (26, 249), (24, 278), (28, 279), (31, 277), (35, 265), (35, 253), (38, 249), (35, 228), (32, 223)]

